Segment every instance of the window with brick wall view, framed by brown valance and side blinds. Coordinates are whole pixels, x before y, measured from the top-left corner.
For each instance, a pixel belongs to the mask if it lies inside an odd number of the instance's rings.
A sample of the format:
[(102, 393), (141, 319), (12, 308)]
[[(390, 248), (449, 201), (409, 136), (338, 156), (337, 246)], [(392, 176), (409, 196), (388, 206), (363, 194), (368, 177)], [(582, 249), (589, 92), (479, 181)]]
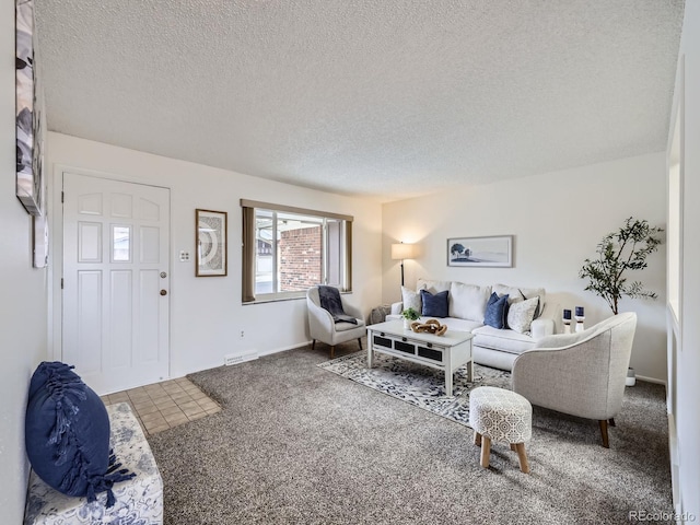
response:
[(352, 217), (241, 200), (243, 302), (304, 296), (310, 287), (351, 289)]

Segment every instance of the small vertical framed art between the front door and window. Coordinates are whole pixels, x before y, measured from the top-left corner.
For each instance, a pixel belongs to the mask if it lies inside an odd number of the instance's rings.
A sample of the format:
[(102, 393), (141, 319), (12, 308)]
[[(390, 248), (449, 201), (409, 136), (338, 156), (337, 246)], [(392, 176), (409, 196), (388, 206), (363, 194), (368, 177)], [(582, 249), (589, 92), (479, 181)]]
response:
[(226, 228), (224, 211), (196, 210), (197, 277), (225, 276), (228, 271)]

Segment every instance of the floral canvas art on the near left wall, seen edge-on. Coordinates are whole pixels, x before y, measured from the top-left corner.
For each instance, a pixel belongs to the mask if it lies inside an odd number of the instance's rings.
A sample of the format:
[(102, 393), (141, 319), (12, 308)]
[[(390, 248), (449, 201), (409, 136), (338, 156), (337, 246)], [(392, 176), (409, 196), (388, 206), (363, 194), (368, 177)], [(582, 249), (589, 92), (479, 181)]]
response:
[(16, 196), (31, 214), (40, 215), (44, 96), (38, 83), (34, 0), (16, 0)]

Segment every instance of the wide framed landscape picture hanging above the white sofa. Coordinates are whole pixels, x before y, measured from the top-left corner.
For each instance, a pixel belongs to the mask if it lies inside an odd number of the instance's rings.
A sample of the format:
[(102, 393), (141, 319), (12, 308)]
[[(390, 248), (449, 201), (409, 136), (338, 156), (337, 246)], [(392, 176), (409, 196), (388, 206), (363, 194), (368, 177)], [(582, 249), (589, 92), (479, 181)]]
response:
[(513, 266), (513, 235), (447, 240), (447, 266)]

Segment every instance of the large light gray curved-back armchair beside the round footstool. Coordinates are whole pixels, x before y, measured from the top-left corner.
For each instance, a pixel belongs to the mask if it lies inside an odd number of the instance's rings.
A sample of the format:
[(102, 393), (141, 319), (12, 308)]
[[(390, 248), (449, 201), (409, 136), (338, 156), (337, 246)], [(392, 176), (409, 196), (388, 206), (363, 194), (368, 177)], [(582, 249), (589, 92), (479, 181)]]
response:
[(615, 315), (576, 332), (547, 336), (513, 363), (513, 390), (533, 405), (597, 419), (603, 446), (622, 407), (637, 314)]

